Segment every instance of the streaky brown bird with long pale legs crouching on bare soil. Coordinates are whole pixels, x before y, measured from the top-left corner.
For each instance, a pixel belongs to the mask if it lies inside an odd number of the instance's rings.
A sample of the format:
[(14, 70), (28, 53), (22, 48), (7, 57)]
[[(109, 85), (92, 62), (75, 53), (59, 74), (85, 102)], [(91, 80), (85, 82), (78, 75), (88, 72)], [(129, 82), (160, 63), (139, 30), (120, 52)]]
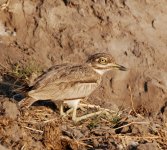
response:
[[(97, 115), (101, 111), (77, 117), (77, 109), (80, 101), (100, 86), (103, 75), (110, 70), (126, 71), (127, 68), (117, 64), (108, 53), (92, 54), (81, 64), (52, 66), (34, 81), (27, 97), (19, 102), (19, 107), (28, 108), (38, 100), (52, 100), (54, 103), (60, 101), (60, 115), (72, 113), (74, 122)], [(64, 104), (70, 108), (66, 113)]]

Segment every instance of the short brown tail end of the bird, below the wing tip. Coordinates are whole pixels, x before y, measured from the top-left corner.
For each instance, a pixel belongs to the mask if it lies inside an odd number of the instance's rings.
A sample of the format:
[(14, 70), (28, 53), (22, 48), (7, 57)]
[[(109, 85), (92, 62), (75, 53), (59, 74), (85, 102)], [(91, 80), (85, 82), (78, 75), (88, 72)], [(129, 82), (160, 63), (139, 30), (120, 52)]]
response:
[(28, 108), (30, 107), (34, 102), (36, 102), (37, 100), (36, 99), (33, 99), (31, 97), (28, 97), (28, 98), (25, 98), (23, 100), (21, 100), (19, 103), (18, 103), (18, 106), (20, 108)]

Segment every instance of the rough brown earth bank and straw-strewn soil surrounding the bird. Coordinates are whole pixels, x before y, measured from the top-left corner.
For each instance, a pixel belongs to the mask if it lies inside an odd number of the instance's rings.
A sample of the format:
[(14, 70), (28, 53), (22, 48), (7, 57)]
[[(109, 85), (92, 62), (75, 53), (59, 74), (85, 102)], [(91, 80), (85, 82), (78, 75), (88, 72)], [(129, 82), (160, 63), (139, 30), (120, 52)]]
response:
[[(166, 24), (165, 0), (1, 0), (0, 149), (167, 149)], [(101, 116), (76, 125), (55, 106), (18, 109), (17, 80), (7, 73), (18, 77), (17, 67), (29, 66), (32, 82), (40, 69), (96, 52), (128, 68), (106, 74), (87, 100), (120, 110), (118, 121)]]

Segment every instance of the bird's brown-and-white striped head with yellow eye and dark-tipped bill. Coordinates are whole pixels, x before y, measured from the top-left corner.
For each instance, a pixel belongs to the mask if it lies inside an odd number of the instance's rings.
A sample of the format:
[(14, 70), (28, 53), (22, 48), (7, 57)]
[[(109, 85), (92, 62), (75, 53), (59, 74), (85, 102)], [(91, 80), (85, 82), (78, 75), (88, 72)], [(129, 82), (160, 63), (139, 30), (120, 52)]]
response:
[(116, 64), (114, 58), (110, 54), (106, 53), (97, 53), (91, 55), (88, 58), (87, 63), (101, 75), (107, 71), (115, 69), (121, 71), (127, 70), (124, 66)]

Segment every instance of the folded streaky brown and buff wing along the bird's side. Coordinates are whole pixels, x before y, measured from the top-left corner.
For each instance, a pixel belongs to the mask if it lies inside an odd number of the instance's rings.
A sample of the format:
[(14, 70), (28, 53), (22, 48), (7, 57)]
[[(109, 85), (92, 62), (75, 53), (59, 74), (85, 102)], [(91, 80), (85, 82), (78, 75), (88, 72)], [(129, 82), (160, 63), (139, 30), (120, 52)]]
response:
[(36, 99), (73, 99), (88, 96), (100, 76), (85, 65), (52, 67), (37, 79), (29, 95)]

